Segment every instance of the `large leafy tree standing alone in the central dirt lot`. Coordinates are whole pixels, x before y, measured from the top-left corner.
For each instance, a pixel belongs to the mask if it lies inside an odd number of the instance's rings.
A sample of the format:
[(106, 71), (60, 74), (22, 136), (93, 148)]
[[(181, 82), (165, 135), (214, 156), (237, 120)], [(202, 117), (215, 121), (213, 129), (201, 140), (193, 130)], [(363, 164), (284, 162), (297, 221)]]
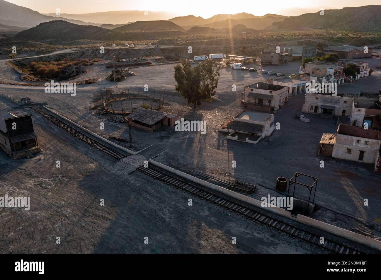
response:
[(219, 67), (211, 59), (205, 63), (192, 67), (191, 63), (182, 62), (174, 66), (174, 80), (176, 91), (194, 107), (201, 105), (201, 101), (211, 102), (218, 84)]

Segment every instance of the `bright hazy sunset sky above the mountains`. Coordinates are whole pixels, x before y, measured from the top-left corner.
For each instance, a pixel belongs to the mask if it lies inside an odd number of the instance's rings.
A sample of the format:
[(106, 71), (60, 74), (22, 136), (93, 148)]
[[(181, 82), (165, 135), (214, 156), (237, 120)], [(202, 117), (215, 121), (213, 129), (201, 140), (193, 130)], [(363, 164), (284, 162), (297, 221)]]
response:
[[(302, 14), (301, 9), (321, 7), (327, 9), (380, 5), (380, 0), (7, 0), (40, 13), (81, 14), (117, 10), (169, 11), (179, 16), (193, 14), (209, 18), (215, 14), (251, 13), (263, 16), (266, 13), (290, 15)], [(288, 5), (285, 5), (288, 3)], [(287, 11), (283, 12), (282, 11)], [(295, 12), (295, 13), (293, 13)]]

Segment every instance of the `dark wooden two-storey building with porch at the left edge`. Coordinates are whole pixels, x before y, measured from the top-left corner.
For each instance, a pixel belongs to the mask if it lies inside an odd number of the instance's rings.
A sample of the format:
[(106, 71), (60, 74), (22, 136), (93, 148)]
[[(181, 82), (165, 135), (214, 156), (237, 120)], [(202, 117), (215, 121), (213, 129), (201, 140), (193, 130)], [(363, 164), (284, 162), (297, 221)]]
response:
[(32, 115), (0, 114), (0, 146), (13, 158), (33, 157), (41, 151), (34, 133)]

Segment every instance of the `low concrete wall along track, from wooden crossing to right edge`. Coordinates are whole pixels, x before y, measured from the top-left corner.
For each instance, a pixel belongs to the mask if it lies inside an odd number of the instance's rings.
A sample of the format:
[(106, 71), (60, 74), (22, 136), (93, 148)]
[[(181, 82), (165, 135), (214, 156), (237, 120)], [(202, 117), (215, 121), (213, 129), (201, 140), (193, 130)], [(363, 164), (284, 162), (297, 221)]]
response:
[(302, 224), (306, 224), (308, 226), (312, 226), (312, 227), (315, 227), (317, 229), (321, 229), (321, 230), (328, 232), (330, 234), (337, 235), (340, 237), (344, 237), (348, 240), (352, 240), (354, 242), (357, 242), (357, 243), (360, 243), (360, 244), (363, 244), (363, 245), (366, 245), (366, 246), (369, 246), (371, 248), (374, 248), (374, 249), (381, 251), (381, 241), (376, 240), (374, 238), (367, 237), (367, 236), (364, 236), (361, 234), (357, 234), (357, 233), (352, 232), (350, 230), (342, 229), (341, 227), (336, 227), (336, 226), (333, 226), (331, 224), (327, 224), (325, 222), (321, 222), (321, 221), (318, 221), (318, 220), (315, 220), (315, 219), (312, 219), (312, 218), (309, 218), (309, 217), (306, 217), (303, 215), (297, 215), (297, 217), (295, 218), (294, 216), (291, 216), (290, 212), (283, 210), (282, 208), (270, 207), (269, 204), (267, 204), (268, 207), (262, 207), (262, 205), (261, 205), (262, 201), (261, 200), (257, 200), (255, 198), (248, 197), (247, 195), (239, 194), (239, 193), (234, 192), (232, 190), (228, 190), (228, 189), (225, 189), (223, 187), (217, 186), (215, 184), (209, 183), (207, 181), (204, 181), (202, 179), (196, 178), (192, 175), (189, 175), (189, 174), (186, 174), (182, 171), (174, 169), (170, 166), (166, 166), (162, 163), (156, 162), (152, 159), (150, 159), (149, 161), (153, 165), (156, 165), (156, 166), (158, 166), (164, 170), (170, 171), (170, 172), (177, 174), (178, 176), (181, 176), (183, 178), (186, 178), (192, 182), (195, 182), (195, 183), (200, 184), (202, 186), (208, 187), (212, 190), (216, 190), (216, 191), (221, 192), (221, 193), (228, 195), (230, 197), (236, 198), (242, 202), (248, 203), (250, 205), (256, 206), (256, 207), (261, 208), (261, 209), (266, 210), (266, 211), (270, 211), (272, 213), (278, 214), (278, 215), (283, 216), (285, 218), (292, 219), (294, 221), (298, 221)]

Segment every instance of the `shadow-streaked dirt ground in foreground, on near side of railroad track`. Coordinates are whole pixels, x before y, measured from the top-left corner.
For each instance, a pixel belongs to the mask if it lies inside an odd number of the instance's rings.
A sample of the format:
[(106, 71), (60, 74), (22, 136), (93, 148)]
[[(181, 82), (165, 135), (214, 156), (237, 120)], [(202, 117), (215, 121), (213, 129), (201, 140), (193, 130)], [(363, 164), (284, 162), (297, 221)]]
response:
[[(19, 109), (4, 99), (1, 110)], [(324, 252), (199, 198), (188, 206), (189, 194), (115, 172), (115, 160), (42, 116), (33, 120), (41, 153), (13, 160), (0, 152), (1, 194), (31, 200), (29, 211), (0, 208), (1, 253)]]

